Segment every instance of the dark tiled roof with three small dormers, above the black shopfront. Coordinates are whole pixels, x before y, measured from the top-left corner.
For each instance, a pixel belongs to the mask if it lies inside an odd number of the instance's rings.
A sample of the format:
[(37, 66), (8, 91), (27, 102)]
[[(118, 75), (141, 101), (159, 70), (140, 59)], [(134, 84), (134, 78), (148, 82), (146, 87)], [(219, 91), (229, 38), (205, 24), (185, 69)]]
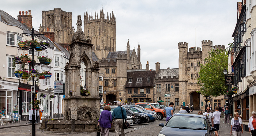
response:
[[(127, 81), (125, 87), (153, 87), (155, 71), (138, 71), (138, 69), (127, 71)], [(132, 82), (129, 82), (129, 78), (132, 78)], [(137, 82), (137, 78), (142, 78), (142, 82)], [(147, 82), (147, 78), (151, 78), (150, 82)]]

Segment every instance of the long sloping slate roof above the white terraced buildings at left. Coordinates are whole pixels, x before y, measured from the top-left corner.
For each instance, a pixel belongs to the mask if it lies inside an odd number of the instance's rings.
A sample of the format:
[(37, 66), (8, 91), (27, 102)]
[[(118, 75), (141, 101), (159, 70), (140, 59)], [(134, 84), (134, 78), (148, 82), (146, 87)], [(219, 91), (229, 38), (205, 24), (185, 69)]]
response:
[[(17, 19), (13, 18), (11, 15), (9, 15), (8, 13), (0, 10), (0, 21), (8, 24), (10, 26), (17, 26), (20, 29), (23, 30), (23, 33), (27, 33), (27, 34), (31, 34), (30, 29), (23, 23), (20, 23)], [(38, 31), (34, 31), (35, 34), (40, 34)], [(48, 39), (47, 37), (45, 37), (44, 35), (39, 35), (38, 36), (39, 39), (41, 40), (46, 40), (46, 41), (50, 41), (50, 39)], [(53, 48), (54, 45), (52, 42), (49, 42), (49, 46), (50, 48)]]

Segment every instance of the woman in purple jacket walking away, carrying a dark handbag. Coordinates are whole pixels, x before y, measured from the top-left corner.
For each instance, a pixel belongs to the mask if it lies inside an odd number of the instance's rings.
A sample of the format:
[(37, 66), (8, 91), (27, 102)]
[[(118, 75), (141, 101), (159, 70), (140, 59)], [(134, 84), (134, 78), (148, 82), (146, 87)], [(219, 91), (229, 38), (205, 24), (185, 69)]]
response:
[(104, 107), (104, 110), (101, 112), (101, 116), (99, 117), (99, 123), (98, 126), (101, 126), (101, 136), (108, 136), (109, 135), (109, 129), (111, 128), (112, 123), (112, 115), (111, 107), (109, 105), (106, 105)]

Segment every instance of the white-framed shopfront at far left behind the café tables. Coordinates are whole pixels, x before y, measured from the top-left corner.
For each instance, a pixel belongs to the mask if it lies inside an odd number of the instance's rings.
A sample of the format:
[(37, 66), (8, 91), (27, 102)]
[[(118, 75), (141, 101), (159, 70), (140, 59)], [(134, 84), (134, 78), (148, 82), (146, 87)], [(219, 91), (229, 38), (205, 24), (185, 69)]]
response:
[(0, 108), (5, 107), (5, 113), (12, 113), (13, 106), (17, 104), (17, 91), (19, 83), (0, 80)]

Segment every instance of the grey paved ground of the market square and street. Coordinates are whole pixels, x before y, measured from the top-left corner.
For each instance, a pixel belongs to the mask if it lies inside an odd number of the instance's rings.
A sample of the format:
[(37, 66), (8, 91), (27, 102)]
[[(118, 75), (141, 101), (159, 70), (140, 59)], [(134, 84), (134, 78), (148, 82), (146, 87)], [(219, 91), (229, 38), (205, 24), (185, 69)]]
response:
[[(193, 114), (197, 114), (199, 110), (194, 110)], [(174, 113), (178, 113), (178, 110), (174, 111)], [(221, 124), (219, 129), (219, 136), (230, 136), (230, 124), (223, 124), (224, 120), (224, 113), (221, 116)], [(0, 126), (1, 135), (8, 135), (8, 136), (28, 136), (32, 135), (32, 124), (27, 123), (29, 121), (21, 121), (21, 122), (14, 122), (13, 124), (4, 124)], [(165, 123), (166, 118), (163, 120), (157, 120), (154, 122), (149, 123), (142, 123), (142, 124), (133, 124), (130, 128), (125, 130), (126, 136), (157, 136), (158, 133), (161, 131), (162, 127), (159, 126), (159, 123)], [(231, 121), (230, 121), (231, 123)], [(36, 123), (36, 135), (52, 135), (52, 136), (93, 136), (96, 135), (96, 132), (53, 132), (53, 131), (45, 131), (39, 129), (41, 123)], [(109, 132), (109, 136), (114, 136), (115, 132)], [(241, 136), (248, 136), (249, 132), (244, 132)]]

